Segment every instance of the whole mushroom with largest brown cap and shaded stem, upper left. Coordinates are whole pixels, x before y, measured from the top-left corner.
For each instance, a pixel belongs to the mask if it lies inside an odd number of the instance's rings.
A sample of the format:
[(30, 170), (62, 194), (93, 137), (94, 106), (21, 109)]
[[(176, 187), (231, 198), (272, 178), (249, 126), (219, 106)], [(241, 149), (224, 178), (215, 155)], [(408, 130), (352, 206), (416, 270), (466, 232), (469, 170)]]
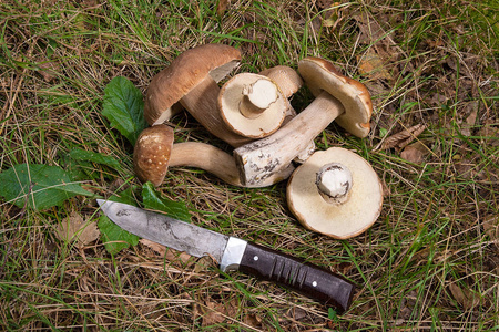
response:
[(216, 43), (183, 52), (152, 79), (145, 95), (145, 120), (150, 125), (164, 123), (172, 114), (172, 106), (180, 102), (210, 133), (230, 145), (249, 142), (232, 132), (217, 110), (217, 82), (240, 61), (237, 49)]

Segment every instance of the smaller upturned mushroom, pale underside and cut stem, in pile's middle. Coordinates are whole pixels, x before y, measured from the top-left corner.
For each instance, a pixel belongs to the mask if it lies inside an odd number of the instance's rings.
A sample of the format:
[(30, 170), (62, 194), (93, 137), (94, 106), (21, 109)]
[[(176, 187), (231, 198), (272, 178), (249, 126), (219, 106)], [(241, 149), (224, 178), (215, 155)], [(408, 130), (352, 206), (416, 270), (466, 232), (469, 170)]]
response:
[(235, 133), (261, 138), (277, 131), (287, 111), (287, 100), (267, 76), (241, 73), (228, 80), (218, 94), (218, 110)]

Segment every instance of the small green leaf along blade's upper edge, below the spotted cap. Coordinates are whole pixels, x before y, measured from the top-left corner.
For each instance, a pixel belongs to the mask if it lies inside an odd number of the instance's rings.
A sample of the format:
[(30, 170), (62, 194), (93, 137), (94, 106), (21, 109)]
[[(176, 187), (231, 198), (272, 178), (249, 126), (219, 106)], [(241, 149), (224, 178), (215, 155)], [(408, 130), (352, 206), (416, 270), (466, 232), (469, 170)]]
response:
[(191, 221), (191, 214), (184, 203), (161, 197), (161, 194), (154, 189), (151, 183), (145, 183), (142, 186), (142, 200), (147, 209), (166, 212), (169, 217), (174, 219)]

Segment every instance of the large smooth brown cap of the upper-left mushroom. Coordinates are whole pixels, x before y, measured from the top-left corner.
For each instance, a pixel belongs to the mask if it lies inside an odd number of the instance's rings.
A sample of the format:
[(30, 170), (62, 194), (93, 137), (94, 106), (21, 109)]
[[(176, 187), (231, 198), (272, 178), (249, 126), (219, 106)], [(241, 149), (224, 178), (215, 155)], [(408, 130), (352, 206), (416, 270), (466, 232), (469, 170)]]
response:
[(151, 81), (144, 103), (144, 117), (150, 125), (163, 123), (171, 107), (207, 75), (220, 82), (241, 61), (241, 52), (224, 44), (204, 44), (190, 49)]

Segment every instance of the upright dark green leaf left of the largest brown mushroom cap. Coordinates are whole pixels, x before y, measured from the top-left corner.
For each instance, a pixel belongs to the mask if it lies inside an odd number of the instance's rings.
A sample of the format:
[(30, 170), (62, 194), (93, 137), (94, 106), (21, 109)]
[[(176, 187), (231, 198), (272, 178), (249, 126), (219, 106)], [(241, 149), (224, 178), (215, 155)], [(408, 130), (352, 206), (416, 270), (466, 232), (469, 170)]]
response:
[(147, 126), (142, 93), (128, 79), (118, 76), (104, 89), (102, 114), (133, 145)]

